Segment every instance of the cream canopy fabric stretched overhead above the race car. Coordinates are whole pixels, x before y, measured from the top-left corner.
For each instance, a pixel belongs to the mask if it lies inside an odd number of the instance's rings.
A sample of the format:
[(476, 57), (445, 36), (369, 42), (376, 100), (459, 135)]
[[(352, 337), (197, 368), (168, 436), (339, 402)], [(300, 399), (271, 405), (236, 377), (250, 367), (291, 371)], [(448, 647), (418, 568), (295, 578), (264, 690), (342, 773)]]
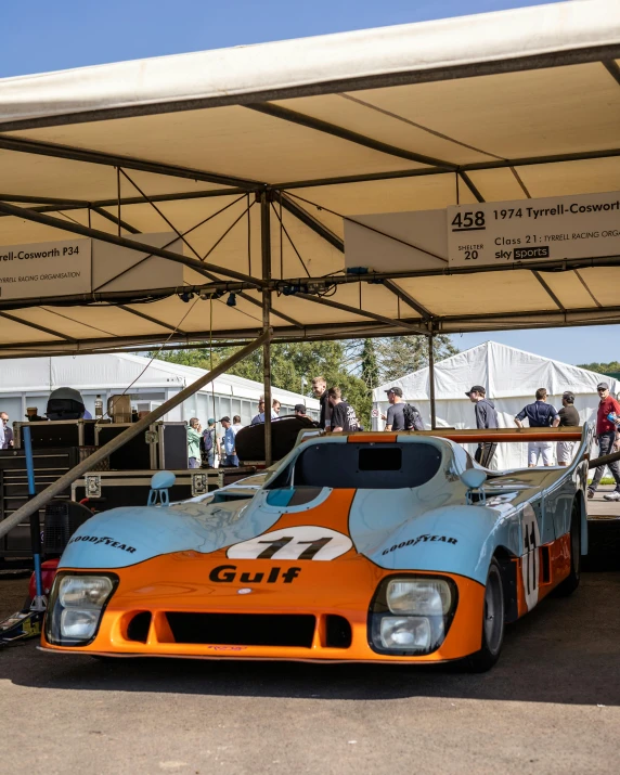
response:
[(367, 283), (343, 236), (360, 214), (620, 190), (619, 60), (620, 4), (592, 0), (0, 80), (1, 246), (188, 232), (216, 270), (185, 287), (224, 294), (0, 298), (0, 357), (255, 337), (269, 280), (283, 339), (618, 322), (613, 260)]

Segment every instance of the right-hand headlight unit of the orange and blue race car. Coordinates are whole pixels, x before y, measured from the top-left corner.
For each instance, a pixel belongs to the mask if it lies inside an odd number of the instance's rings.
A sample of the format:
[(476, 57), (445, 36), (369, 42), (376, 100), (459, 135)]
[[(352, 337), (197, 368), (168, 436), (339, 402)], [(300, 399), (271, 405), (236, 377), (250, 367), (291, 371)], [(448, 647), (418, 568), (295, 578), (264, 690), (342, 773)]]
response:
[(443, 643), (456, 610), (452, 579), (404, 576), (384, 579), (371, 604), (369, 641), (379, 654), (421, 656)]

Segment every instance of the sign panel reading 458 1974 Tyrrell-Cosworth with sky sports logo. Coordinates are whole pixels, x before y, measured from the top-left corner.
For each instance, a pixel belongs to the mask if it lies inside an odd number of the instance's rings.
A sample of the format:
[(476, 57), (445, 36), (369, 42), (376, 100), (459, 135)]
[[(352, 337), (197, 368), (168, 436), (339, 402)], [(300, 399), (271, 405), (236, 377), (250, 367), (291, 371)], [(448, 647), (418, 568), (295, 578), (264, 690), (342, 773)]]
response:
[(620, 193), (448, 208), (451, 266), (598, 258), (620, 253)]

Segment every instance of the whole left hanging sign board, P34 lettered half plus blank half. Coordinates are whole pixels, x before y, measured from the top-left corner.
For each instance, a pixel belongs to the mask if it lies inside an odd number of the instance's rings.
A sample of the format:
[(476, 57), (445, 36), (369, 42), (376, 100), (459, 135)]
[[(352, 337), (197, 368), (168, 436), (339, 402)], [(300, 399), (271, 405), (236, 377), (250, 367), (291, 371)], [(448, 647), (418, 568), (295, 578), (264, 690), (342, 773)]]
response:
[[(138, 234), (134, 238), (183, 253), (183, 245), (173, 233)], [(101, 240), (0, 246), (0, 299), (144, 292), (182, 285), (183, 264)]]

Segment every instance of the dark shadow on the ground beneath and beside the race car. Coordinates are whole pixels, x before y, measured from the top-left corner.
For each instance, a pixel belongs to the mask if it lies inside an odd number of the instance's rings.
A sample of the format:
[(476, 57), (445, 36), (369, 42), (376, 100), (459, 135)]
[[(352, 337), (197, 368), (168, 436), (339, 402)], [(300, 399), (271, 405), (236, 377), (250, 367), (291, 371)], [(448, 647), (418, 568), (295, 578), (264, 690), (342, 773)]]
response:
[[(620, 705), (620, 573), (585, 573), (570, 598), (544, 600), (511, 625), (499, 664), (468, 675), (432, 667), (118, 659), (0, 653), (0, 680), (41, 689), (338, 700), (451, 697)], [(41, 699), (44, 700), (44, 697)]]

